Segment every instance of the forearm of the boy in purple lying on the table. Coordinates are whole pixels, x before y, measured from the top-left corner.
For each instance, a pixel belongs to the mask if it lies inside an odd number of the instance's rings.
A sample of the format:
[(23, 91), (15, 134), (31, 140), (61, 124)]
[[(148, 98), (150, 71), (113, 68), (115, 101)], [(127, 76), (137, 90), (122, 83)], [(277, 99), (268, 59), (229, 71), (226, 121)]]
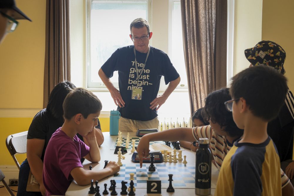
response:
[(105, 169), (95, 171), (95, 170), (85, 170), (83, 167), (75, 167), (71, 170), (71, 176), (74, 178), (76, 183), (80, 186), (89, 185), (91, 180), (101, 180), (105, 177), (111, 176), (117, 173), (120, 170), (119, 165), (114, 162), (110, 161)]

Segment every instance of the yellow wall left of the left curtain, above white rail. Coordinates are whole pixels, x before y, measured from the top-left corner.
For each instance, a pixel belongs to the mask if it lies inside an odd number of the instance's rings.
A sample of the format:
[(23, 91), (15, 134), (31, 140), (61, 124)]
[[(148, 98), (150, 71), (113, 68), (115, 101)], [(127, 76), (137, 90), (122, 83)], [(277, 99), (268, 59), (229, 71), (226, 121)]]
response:
[(0, 108), (41, 108), (46, 1), (17, 0), (16, 5), (33, 22), (19, 20), (0, 46)]

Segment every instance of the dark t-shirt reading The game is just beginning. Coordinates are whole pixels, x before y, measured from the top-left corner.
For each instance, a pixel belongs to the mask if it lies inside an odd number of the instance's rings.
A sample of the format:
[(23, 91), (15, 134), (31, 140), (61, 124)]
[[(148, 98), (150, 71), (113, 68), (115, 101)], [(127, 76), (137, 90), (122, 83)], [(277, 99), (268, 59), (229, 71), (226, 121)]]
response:
[[(147, 53), (136, 51), (136, 60), (137, 63), (139, 63), (139, 74), (145, 63), (146, 56)], [(142, 71), (138, 83), (138, 87), (143, 88), (142, 100), (131, 99), (132, 87), (137, 86), (133, 45), (118, 48), (103, 64), (101, 69), (108, 78), (113, 76), (114, 71), (118, 71), (119, 91), (126, 103), (124, 108), (117, 108), (121, 113), (121, 116), (141, 121), (152, 120), (157, 116), (156, 110), (151, 110), (149, 107), (151, 101), (157, 96), (161, 76), (164, 76), (166, 84), (179, 77), (179, 74), (173, 67), (168, 55), (151, 46), (145, 69)]]

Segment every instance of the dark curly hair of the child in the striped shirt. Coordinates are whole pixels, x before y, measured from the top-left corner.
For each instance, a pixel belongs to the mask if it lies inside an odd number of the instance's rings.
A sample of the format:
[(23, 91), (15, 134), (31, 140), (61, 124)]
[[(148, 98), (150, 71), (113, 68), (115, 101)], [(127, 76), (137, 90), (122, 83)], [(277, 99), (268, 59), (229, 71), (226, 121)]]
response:
[(225, 108), (225, 101), (231, 100), (229, 88), (222, 88), (210, 93), (205, 99), (205, 107), (202, 111), (207, 121), (218, 123), (220, 128), (229, 136), (243, 135), (243, 129), (239, 129), (233, 120), (233, 115)]

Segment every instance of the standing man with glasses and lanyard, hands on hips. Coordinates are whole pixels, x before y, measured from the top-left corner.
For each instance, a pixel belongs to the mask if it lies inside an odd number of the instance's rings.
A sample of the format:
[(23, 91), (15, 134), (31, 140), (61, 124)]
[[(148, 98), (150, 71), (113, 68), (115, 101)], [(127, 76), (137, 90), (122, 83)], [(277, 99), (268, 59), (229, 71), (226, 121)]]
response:
[[(167, 54), (149, 46), (152, 32), (145, 19), (135, 19), (130, 30), (134, 45), (118, 48), (98, 74), (118, 105), (117, 110), (121, 113), (119, 130), (135, 132), (137, 129), (158, 128), (157, 110), (181, 78)], [(114, 71), (118, 71), (119, 91), (109, 79)], [(157, 95), (161, 76), (169, 85), (162, 95)]]

